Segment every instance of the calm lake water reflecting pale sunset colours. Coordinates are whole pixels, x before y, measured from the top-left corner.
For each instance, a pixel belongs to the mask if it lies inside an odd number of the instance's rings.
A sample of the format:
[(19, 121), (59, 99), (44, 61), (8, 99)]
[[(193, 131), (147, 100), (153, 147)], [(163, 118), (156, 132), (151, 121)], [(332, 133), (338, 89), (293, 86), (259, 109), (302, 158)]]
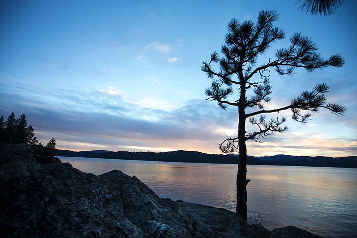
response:
[[(235, 211), (237, 165), (59, 157), (82, 172), (135, 175), (160, 197)], [(356, 237), (357, 169), (248, 165), (248, 220), (326, 238)], [(260, 220), (259, 218), (257, 220)]]

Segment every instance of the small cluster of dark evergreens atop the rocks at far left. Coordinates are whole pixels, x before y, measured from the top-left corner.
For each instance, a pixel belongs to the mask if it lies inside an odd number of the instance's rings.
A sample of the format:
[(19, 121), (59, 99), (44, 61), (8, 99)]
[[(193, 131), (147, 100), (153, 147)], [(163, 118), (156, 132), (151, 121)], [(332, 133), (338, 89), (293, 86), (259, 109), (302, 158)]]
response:
[(5, 144), (26, 144), (31, 146), (35, 156), (53, 157), (56, 150), (56, 140), (52, 139), (46, 146), (38, 142), (35, 136), (35, 129), (32, 125), (27, 125), (26, 115), (22, 114), (18, 119), (12, 112), (6, 121), (0, 117), (0, 143)]

